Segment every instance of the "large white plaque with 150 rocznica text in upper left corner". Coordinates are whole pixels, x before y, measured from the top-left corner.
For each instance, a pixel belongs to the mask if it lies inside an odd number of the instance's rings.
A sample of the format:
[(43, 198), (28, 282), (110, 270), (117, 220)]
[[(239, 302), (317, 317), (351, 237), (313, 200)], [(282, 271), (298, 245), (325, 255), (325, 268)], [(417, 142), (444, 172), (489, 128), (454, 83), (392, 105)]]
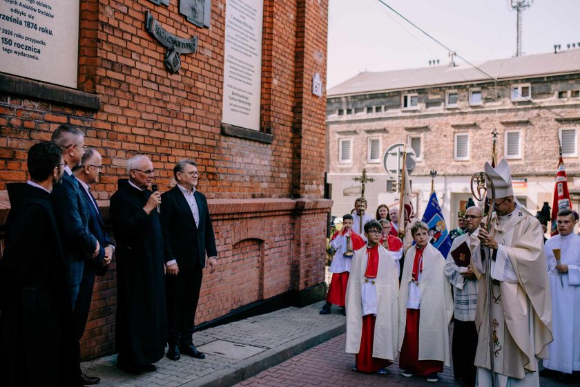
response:
[(0, 0), (0, 72), (77, 87), (79, 0)]

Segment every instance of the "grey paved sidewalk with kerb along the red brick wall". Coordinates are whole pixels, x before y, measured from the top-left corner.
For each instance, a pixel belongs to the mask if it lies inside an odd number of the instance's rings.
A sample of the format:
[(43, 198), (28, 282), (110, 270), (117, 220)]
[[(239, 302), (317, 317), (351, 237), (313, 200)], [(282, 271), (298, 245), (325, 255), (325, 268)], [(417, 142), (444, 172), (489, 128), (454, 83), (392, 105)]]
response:
[(206, 359), (164, 357), (156, 372), (129, 375), (117, 369), (117, 355), (86, 361), (87, 375), (101, 378), (99, 386), (233, 386), (345, 332), (346, 320), (333, 308), (320, 316), (324, 302), (286, 308), (220, 325), (193, 334), (193, 343)]

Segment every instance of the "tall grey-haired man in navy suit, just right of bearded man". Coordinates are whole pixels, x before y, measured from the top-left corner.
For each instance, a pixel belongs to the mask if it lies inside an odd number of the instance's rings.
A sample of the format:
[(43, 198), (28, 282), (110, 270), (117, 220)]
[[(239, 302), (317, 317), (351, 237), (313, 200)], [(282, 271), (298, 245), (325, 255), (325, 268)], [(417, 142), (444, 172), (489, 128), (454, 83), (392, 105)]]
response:
[[(84, 135), (75, 126), (63, 124), (52, 133), (51, 140), (61, 147), (62, 158), (66, 162), (61, 184), (52, 190), (52, 207), (63, 240), (68, 297), (72, 310), (75, 310), (85, 263), (99, 256), (101, 246), (88, 229), (86, 202), (77, 179), (72, 175), (72, 168), (79, 164), (84, 154)], [(80, 370), (80, 346), (77, 352)], [(99, 381), (98, 377), (88, 377), (81, 372), (77, 385), (97, 384)]]

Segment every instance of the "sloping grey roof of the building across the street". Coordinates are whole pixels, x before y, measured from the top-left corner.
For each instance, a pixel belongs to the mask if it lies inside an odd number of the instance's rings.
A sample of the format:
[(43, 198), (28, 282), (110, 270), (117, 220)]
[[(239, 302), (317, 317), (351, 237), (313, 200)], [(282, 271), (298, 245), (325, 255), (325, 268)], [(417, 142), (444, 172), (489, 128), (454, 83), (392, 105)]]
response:
[[(494, 59), (476, 64), (485, 73), (497, 79), (535, 77), (580, 72), (580, 48), (560, 51), (557, 54), (524, 55), (507, 59)], [(408, 88), (423, 88), (445, 84), (466, 84), (490, 79), (467, 64), (429, 66), (392, 71), (365, 71), (330, 88), (329, 97), (362, 93), (376, 93)]]

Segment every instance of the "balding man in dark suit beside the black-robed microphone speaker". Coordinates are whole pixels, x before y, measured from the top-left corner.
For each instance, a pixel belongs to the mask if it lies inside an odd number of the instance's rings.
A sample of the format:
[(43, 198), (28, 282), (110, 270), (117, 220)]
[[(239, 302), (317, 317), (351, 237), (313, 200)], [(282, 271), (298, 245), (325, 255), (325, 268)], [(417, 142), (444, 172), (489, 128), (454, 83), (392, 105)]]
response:
[[(90, 310), (90, 301), (93, 299), (93, 285), (95, 284), (95, 275), (102, 276), (106, 273), (107, 266), (113, 258), (115, 247), (111, 243), (106, 231), (103, 218), (99, 212), (97, 202), (90, 192), (90, 185), (99, 182), (99, 173), (102, 169), (102, 158), (99, 152), (94, 148), (85, 150), (81, 163), (73, 169), (77, 178), (77, 183), (81, 188), (81, 193), (85, 200), (88, 213), (88, 229), (93, 236), (99, 241), (99, 254), (93, 260), (86, 261), (79, 284), (79, 294), (75, 304), (75, 335), (77, 341), (81, 339), (84, 333), (88, 311)], [(79, 364), (80, 366), (80, 364)], [(78, 369), (79, 375), (82, 371)]]

